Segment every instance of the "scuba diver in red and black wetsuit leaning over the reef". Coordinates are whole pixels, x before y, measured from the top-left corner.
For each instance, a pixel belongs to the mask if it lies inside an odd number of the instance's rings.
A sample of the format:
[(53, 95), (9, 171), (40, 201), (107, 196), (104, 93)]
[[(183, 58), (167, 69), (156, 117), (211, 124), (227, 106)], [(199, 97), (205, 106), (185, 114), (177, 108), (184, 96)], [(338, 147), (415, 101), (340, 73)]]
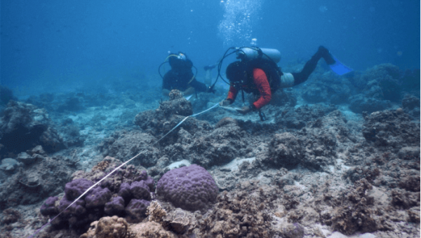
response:
[[(259, 52), (262, 55), (262, 52)], [(265, 55), (263, 53), (263, 55)], [(274, 60), (241, 60), (227, 66), (227, 78), (229, 79), (229, 92), (227, 99), (220, 102), (220, 106), (232, 104), (239, 91), (253, 93), (259, 98), (250, 106), (243, 106), (237, 110), (246, 114), (257, 111), (270, 102), (272, 93), (279, 88), (293, 87), (305, 82), (310, 74), (316, 69), (317, 62), (323, 58), (328, 65), (334, 65), (335, 59), (328, 49), (319, 47), (316, 54), (305, 64), (299, 73), (282, 73)], [(280, 59), (280, 58), (279, 58)], [(279, 60), (278, 60), (279, 61)], [(334, 70), (335, 71), (335, 70)]]

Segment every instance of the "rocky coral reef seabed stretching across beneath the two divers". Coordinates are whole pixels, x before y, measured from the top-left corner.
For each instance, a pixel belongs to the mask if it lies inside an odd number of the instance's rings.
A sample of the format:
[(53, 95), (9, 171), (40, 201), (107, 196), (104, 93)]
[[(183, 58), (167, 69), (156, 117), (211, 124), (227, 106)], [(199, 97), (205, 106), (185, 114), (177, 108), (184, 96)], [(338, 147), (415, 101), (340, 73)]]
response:
[[(48, 154), (38, 141), (18, 151), (0, 146), (0, 237), (34, 234), (60, 211), (38, 237), (420, 237), (421, 101), (408, 86), (416, 80), (417, 71), (391, 64), (347, 76), (318, 66), (305, 85), (274, 94), (262, 109), (266, 121), (215, 108), (159, 143), (193, 108), (219, 99), (198, 94), (188, 102), (173, 91), (159, 103), (160, 88), (150, 88), (153, 97), (30, 97), (59, 122), (63, 144), (83, 147)], [(83, 110), (58, 113), (80, 110), (71, 98)], [(139, 106), (145, 99), (153, 102)], [(19, 120), (31, 125), (38, 110), (36, 119), (50, 125), (43, 109), (10, 105), (13, 115), (25, 112)]]

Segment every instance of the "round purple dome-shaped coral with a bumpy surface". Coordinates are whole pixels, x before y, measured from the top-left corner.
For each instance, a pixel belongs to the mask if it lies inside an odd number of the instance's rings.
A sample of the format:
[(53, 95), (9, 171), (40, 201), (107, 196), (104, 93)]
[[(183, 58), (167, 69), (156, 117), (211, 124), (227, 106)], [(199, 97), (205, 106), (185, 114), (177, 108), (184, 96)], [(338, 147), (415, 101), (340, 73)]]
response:
[(160, 197), (189, 211), (203, 209), (209, 202), (215, 202), (218, 190), (212, 176), (199, 165), (172, 169), (156, 186)]

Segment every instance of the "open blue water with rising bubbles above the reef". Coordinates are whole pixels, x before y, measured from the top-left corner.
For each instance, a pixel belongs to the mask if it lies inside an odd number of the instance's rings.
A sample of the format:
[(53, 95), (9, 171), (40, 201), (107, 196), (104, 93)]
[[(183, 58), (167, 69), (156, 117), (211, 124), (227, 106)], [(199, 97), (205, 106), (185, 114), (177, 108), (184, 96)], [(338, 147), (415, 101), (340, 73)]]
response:
[(168, 51), (186, 52), (200, 78), (229, 46), (251, 43), (279, 49), (281, 66), (325, 45), (356, 70), (413, 69), (420, 25), (420, 0), (3, 0), (0, 83), (18, 97), (158, 87)]

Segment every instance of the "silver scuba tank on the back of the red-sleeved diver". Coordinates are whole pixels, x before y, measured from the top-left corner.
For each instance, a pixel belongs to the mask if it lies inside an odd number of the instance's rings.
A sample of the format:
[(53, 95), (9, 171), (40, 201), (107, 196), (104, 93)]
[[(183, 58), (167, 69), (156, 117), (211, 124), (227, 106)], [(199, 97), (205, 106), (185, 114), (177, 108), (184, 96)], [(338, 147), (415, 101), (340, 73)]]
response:
[(237, 49), (237, 59), (250, 60), (263, 57), (272, 59), (275, 63), (281, 61), (281, 52), (276, 49), (258, 48), (258, 47), (241, 47)]

